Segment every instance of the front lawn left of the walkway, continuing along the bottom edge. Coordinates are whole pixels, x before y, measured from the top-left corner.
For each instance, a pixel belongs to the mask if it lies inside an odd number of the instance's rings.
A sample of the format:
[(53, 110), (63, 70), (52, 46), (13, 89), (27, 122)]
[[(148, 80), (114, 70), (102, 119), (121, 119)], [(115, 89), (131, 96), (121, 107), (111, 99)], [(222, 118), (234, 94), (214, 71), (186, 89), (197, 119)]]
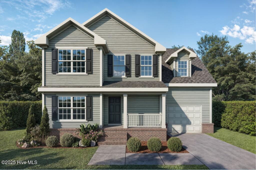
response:
[(98, 147), (85, 149), (20, 149), (15, 142), (24, 136), (24, 129), (0, 131), (0, 159), (36, 160), (36, 165), (3, 165), (0, 169), (208, 169), (205, 165), (87, 165)]

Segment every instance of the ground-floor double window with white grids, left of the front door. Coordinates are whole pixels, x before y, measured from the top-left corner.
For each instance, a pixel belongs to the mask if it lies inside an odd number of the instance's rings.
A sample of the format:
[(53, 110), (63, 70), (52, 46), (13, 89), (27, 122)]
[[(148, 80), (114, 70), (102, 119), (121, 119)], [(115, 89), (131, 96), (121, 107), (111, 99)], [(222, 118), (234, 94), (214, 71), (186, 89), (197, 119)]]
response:
[(59, 120), (85, 120), (85, 96), (59, 96)]

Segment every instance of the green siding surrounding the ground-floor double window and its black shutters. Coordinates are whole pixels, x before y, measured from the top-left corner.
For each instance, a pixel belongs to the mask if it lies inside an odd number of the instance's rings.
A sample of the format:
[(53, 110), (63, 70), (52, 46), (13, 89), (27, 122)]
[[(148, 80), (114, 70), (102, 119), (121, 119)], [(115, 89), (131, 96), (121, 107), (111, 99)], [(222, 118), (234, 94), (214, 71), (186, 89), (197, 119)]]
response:
[[(45, 94), (45, 105), (48, 109), (49, 114), (49, 124), (50, 128), (78, 128), (80, 127), (82, 123), (85, 124), (94, 124), (98, 123), (100, 124), (100, 95), (99, 94), (84, 94), (87, 96), (92, 96), (92, 121), (88, 122), (57, 122), (51, 120), (51, 97), (56, 94)], [(70, 96), (71, 94), (68, 94), (67, 96)], [(83, 95), (82, 93), (74, 93), (73, 96), (76, 95)], [(65, 96), (65, 94), (57, 95), (57, 96)]]

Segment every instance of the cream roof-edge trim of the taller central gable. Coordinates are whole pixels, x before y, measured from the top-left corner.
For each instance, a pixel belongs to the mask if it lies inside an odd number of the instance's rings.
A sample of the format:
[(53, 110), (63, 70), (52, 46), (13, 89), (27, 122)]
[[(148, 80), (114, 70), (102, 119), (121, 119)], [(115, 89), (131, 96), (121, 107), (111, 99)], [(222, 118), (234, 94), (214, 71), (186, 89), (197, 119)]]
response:
[(156, 53), (159, 52), (159, 53), (163, 54), (166, 51), (166, 48), (163, 45), (159, 44), (158, 42), (156, 42), (155, 40), (150, 38), (148, 35), (146, 35), (142, 31), (138, 30), (133, 25), (131, 25), (130, 23), (128, 23), (127, 21), (125, 21), (124, 19), (122, 19), (121, 17), (119, 17), (118, 15), (116, 15), (115, 13), (113, 13), (112, 11), (110, 11), (107, 8), (103, 9), (98, 14), (94, 15), (93, 17), (91, 17), (90, 19), (88, 19), (87, 21), (82, 23), (82, 25), (85, 26), (85, 27), (89, 27), (94, 22), (98, 21), (99, 19), (101, 19), (105, 15), (108, 15), (108, 16), (114, 18), (116, 21), (120, 22), (122, 25), (124, 25), (125, 27), (127, 27), (128, 29), (130, 29), (131, 31), (136, 33), (137, 35), (143, 37), (146, 41), (152, 43), (155, 46), (155, 52)]

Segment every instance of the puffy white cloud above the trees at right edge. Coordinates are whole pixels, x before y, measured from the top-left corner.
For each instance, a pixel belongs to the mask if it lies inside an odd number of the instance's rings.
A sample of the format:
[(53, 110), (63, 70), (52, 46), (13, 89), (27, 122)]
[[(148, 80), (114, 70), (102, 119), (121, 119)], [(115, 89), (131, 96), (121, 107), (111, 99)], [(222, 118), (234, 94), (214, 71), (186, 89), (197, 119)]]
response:
[(256, 42), (256, 31), (254, 27), (243, 26), (243, 28), (240, 28), (240, 26), (235, 24), (233, 28), (228, 26), (222, 27), (220, 33), (233, 38), (239, 38), (240, 40), (245, 39), (245, 42), (249, 44)]

